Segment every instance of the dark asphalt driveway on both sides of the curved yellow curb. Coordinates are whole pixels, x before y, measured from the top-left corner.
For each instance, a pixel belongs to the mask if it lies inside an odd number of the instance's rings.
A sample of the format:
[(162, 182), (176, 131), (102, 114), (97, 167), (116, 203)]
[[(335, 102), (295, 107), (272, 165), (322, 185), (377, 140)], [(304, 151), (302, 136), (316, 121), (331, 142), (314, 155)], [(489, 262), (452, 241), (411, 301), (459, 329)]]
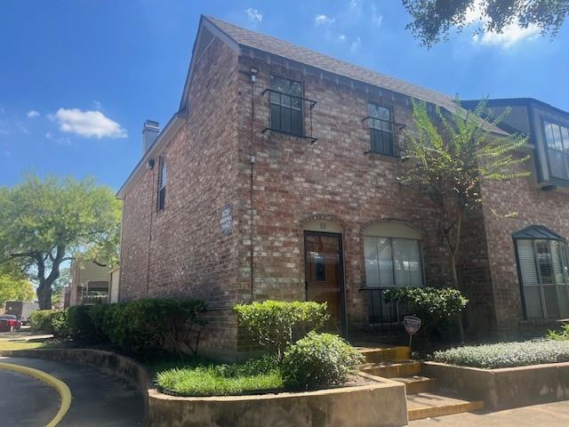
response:
[[(44, 359), (0, 357), (0, 361), (35, 367), (68, 384), (71, 407), (60, 427), (124, 427), (139, 426), (144, 422), (144, 401), (138, 391), (124, 381), (104, 375), (92, 367), (84, 367)], [(10, 390), (6, 400), (0, 400), (2, 425), (41, 426), (51, 420), (59, 410), (57, 391), (37, 380), (9, 371), (0, 371), (2, 389)], [(4, 381), (5, 380), (5, 381)], [(9, 387), (9, 389), (8, 389)], [(12, 393), (14, 388), (15, 393)], [(30, 398), (28, 398), (30, 396)], [(22, 397), (25, 397), (22, 399)], [(28, 402), (32, 399), (32, 405)], [(4, 412), (8, 407), (9, 412)], [(17, 418), (9, 423), (4, 414)], [(22, 415), (23, 414), (23, 415)], [(13, 418), (12, 418), (13, 419)]]

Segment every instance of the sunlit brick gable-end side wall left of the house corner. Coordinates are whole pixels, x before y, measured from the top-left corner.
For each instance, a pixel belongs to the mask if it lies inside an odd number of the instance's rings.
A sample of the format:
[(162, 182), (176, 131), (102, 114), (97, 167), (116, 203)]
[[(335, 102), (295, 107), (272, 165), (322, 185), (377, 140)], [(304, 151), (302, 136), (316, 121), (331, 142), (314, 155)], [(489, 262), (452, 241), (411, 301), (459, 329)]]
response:
[[(236, 179), (236, 58), (216, 39), (196, 63), (188, 120), (159, 153), (168, 168), (164, 211), (156, 213), (157, 157), (156, 167), (145, 170), (124, 197), (120, 300), (203, 299), (211, 312), (201, 347), (210, 353), (236, 345), (228, 311), (236, 299), (243, 208)], [(226, 204), (233, 205), (230, 236), (220, 233)]]

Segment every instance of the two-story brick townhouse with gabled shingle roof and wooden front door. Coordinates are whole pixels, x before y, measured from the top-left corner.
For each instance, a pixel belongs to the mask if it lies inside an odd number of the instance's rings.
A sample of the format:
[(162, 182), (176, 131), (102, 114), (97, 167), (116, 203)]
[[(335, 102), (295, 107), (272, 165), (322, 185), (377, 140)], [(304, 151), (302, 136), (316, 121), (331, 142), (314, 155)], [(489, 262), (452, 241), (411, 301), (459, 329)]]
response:
[[(180, 109), (161, 132), (145, 124), (143, 157), (118, 193), (119, 299), (204, 299), (200, 347), (226, 358), (249, 350), (236, 302), (326, 301), (350, 338), (397, 326), (384, 288), (450, 283), (436, 209), (397, 183), (413, 99), (456, 108), (445, 95), (203, 16)], [(529, 181), (509, 185), (547, 200), (551, 221), (525, 206), (535, 216), (508, 227), (568, 235), (565, 195)], [(481, 212), (463, 241), (461, 283), (482, 332), (524, 319), (511, 232), (506, 242), (501, 227)], [(504, 254), (493, 253), (495, 240), (509, 245)]]

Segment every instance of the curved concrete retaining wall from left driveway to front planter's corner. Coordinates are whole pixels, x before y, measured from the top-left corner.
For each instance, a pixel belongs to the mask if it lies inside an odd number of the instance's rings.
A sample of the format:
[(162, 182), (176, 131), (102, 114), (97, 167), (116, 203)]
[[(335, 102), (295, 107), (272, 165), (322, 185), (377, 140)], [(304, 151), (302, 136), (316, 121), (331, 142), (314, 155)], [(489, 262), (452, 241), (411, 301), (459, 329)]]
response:
[[(1, 356), (53, 359), (97, 367), (124, 378), (145, 398), (152, 427), (399, 427), (407, 424), (405, 385), (373, 383), (330, 390), (257, 396), (173, 397), (149, 388), (148, 374), (132, 359), (103, 350), (2, 350)], [(369, 375), (364, 375), (371, 379)]]

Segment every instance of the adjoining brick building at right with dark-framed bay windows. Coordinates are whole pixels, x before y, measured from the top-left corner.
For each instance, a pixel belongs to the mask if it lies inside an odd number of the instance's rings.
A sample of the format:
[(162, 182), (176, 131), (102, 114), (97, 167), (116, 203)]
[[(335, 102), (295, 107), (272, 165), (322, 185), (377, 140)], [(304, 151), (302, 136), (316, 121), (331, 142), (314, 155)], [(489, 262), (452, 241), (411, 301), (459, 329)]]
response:
[(496, 212), (515, 214), (486, 212), (485, 240), (496, 322), (527, 329), (569, 318), (569, 112), (520, 98), (489, 100), (486, 114), (499, 117), (506, 108), (500, 126), (527, 137), (533, 176), (485, 186), (482, 195)]

